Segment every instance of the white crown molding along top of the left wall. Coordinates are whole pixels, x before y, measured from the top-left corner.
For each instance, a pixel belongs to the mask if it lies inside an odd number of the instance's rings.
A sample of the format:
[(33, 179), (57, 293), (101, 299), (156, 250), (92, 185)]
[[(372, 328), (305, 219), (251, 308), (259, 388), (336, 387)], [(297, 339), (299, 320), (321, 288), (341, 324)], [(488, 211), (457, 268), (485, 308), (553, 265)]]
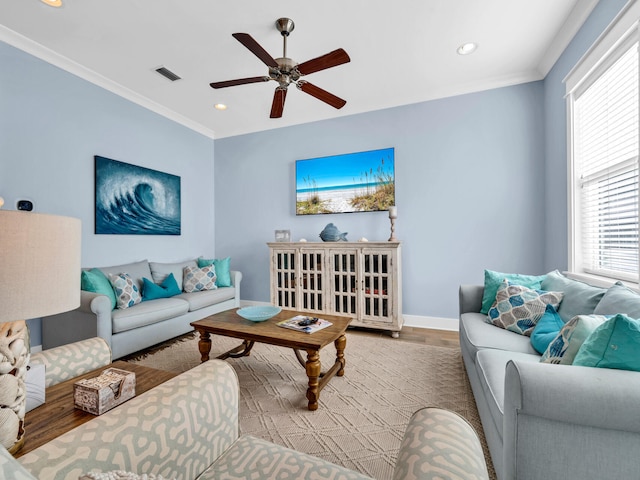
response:
[(51, 65), (54, 65), (62, 70), (69, 72), (87, 82), (90, 82), (94, 85), (97, 85), (105, 90), (108, 90), (111, 93), (115, 93), (119, 97), (122, 97), (126, 100), (129, 100), (136, 105), (139, 105), (147, 110), (150, 110), (158, 115), (161, 115), (169, 120), (172, 120), (184, 127), (187, 127), (201, 135), (206, 137), (215, 138), (215, 132), (200, 123), (194, 122), (179, 113), (174, 112), (173, 110), (166, 108), (158, 103), (135, 93), (134, 91), (116, 83), (108, 78), (100, 75), (97, 72), (94, 72), (87, 67), (80, 65), (73, 60), (60, 55), (53, 50), (41, 45), (33, 40), (21, 35), (13, 30), (5, 27), (4, 25), (0, 25), (0, 41), (3, 41), (23, 52), (26, 52), (30, 55), (33, 55), (40, 60), (43, 60)]

